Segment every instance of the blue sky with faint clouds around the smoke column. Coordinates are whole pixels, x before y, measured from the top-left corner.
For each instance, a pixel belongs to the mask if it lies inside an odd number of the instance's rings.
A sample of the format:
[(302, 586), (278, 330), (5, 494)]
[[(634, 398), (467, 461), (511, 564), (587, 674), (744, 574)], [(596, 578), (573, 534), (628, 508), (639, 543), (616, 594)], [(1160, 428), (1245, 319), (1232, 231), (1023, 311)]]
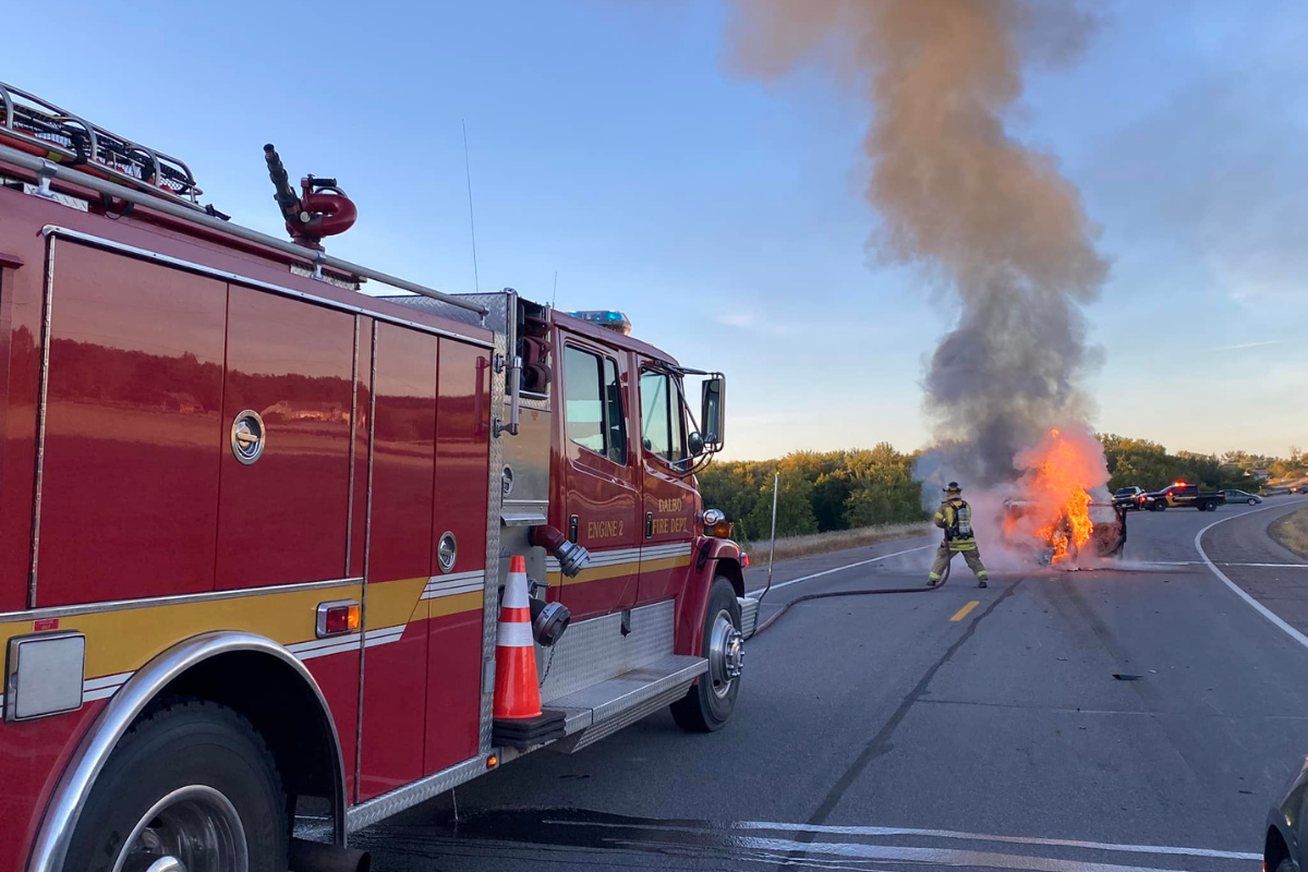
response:
[[(798, 0), (797, 0), (798, 1)], [(1308, 7), (1117, 3), (1011, 119), (1104, 226), (1088, 310), (1103, 430), (1172, 450), (1308, 447)], [(954, 315), (871, 265), (866, 106), (723, 59), (717, 0), (71, 0), (8, 17), (0, 80), (188, 161), (280, 234), (260, 146), (339, 176), (334, 254), (433, 286), (621, 309), (731, 379), (729, 452), (927, 439), (922, 360)]]

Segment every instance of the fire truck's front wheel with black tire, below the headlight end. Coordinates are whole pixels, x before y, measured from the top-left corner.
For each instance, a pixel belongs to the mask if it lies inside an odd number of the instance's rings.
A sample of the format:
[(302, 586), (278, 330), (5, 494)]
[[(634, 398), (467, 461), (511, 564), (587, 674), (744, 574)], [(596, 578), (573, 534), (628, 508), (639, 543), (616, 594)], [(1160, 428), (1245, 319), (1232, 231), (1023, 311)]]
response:
[(672, 703), (672, 719), (688, 732), (722, 729), (731, 719), (740, 693), (740, 664), (744, 652), (740, 637), (740, 603), (722, 575), (709, 588), (709, 608), (704, 616), (704, 659), (709, 671)]

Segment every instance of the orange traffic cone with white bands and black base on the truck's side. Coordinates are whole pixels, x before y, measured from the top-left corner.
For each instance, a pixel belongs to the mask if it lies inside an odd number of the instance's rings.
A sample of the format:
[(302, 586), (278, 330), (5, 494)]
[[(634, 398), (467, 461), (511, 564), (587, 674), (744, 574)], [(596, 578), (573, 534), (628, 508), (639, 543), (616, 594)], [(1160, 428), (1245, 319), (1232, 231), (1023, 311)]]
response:
[(500, 603), (493, 715), (492, 741), (496, 745), (527, 748), (564, 736), (564, 713), (540, 709), (527, 561), (522, 554), (509, 561), (509, 579)]

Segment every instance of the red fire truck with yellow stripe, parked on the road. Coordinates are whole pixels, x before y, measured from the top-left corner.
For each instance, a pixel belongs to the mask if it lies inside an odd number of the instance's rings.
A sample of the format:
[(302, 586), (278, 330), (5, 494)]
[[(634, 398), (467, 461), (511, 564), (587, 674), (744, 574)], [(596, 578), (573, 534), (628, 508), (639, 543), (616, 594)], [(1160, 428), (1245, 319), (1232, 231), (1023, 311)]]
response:
[[(351, 831), (539, 746), (726, 723), (757, 605), (693, 475), (721, 374), (328, 256), (353, 204), (271, 146), (294, 242), (0, 101), (0, 869), (344, 868)], [(523, 748), (492, 716), (519, 554), (565, 724)]]

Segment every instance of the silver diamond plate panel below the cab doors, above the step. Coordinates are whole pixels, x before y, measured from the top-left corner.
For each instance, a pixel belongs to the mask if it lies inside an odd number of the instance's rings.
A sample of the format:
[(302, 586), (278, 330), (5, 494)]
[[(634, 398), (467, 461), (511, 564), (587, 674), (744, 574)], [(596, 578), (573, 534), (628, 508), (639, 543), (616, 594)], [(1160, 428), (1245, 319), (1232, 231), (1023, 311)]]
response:
[(573, 624), (553, 648), (536, 646), (540, 699), (553, 699), (607, 681), (672, 654), (672, 600), (632, 609), (632, 631), (623, 616), (604, 614)]

